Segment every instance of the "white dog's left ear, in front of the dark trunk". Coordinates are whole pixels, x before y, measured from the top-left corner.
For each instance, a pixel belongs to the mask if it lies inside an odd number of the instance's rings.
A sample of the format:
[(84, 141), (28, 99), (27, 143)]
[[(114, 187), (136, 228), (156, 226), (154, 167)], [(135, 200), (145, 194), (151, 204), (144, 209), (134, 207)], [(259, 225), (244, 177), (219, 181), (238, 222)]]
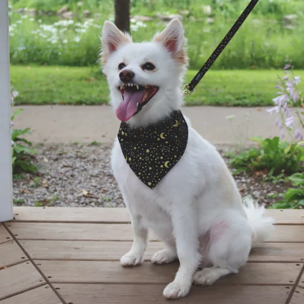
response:
[(121, 45), (131, 42), (132, 39), (128, 33), (120, 31), (114, 23), (105, 21), (101, 35), (101, 62), (104, 64), (111, 53), (115, 52)]

